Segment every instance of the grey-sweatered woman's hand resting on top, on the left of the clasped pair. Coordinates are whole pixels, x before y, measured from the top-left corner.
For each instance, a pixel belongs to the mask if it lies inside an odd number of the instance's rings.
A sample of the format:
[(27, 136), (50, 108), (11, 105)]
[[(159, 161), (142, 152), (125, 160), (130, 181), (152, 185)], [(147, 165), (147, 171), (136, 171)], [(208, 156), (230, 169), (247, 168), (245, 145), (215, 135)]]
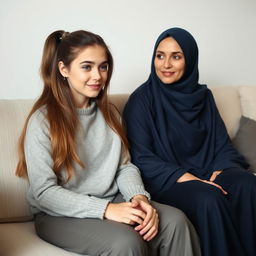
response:
[(142, 225), (146, 214), (136, 209), (138, 202), (109, 203), (105, 211), (105, 218), (129, 225)]

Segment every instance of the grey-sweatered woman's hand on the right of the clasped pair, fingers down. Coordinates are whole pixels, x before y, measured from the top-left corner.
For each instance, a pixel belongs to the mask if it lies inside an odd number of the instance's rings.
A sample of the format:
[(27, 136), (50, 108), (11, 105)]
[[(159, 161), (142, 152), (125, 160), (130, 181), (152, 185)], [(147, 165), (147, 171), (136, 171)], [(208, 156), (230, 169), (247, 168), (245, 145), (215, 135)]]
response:
[(135, 230), (138, 231), (141, 236), (143, 236), (144, 240), (150, 241), (158, 233), (159, 218), (156, 209), (150, 205), (148, 199), (143, 195), (135, 196), (132, 199), (132, 203), (136, 205), (136, 208), (139, 208), (146, 214), (143, 223), (136, 226)]

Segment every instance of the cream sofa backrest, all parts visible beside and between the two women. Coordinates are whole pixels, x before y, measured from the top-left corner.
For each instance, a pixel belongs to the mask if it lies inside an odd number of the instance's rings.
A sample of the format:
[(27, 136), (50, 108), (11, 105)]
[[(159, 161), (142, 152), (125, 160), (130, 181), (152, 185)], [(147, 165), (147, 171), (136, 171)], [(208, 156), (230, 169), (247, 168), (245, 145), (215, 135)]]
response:
[[(241, 107), (235, 87), (213, 88), (213, 94), (228, 132), (237, 131)], [(128, 94), (111, 95), (120, 112)], [(14, 175), (17, 164), (17, 142), (34, 100), (0, 100), (0, 222), (31, 220), (26, 201), (28, 182)]]

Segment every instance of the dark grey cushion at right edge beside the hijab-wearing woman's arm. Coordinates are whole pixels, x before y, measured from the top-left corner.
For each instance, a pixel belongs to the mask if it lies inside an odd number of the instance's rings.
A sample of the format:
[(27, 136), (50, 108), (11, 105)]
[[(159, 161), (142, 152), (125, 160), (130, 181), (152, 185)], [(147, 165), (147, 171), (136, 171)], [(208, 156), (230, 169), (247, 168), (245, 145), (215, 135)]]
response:
[(250, 170), (256, 172), (256, 121), (244, 116), (241, 117), (233, 145), (250, 164)]

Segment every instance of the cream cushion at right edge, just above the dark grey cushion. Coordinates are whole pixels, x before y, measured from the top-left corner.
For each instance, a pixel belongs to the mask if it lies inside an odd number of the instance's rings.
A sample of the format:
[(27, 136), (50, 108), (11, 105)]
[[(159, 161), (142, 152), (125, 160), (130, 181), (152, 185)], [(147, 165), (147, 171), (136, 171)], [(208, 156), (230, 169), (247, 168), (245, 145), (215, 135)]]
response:
[(256, 86), (240, 86), (238, 93), (243, 116), (256, 120)]

